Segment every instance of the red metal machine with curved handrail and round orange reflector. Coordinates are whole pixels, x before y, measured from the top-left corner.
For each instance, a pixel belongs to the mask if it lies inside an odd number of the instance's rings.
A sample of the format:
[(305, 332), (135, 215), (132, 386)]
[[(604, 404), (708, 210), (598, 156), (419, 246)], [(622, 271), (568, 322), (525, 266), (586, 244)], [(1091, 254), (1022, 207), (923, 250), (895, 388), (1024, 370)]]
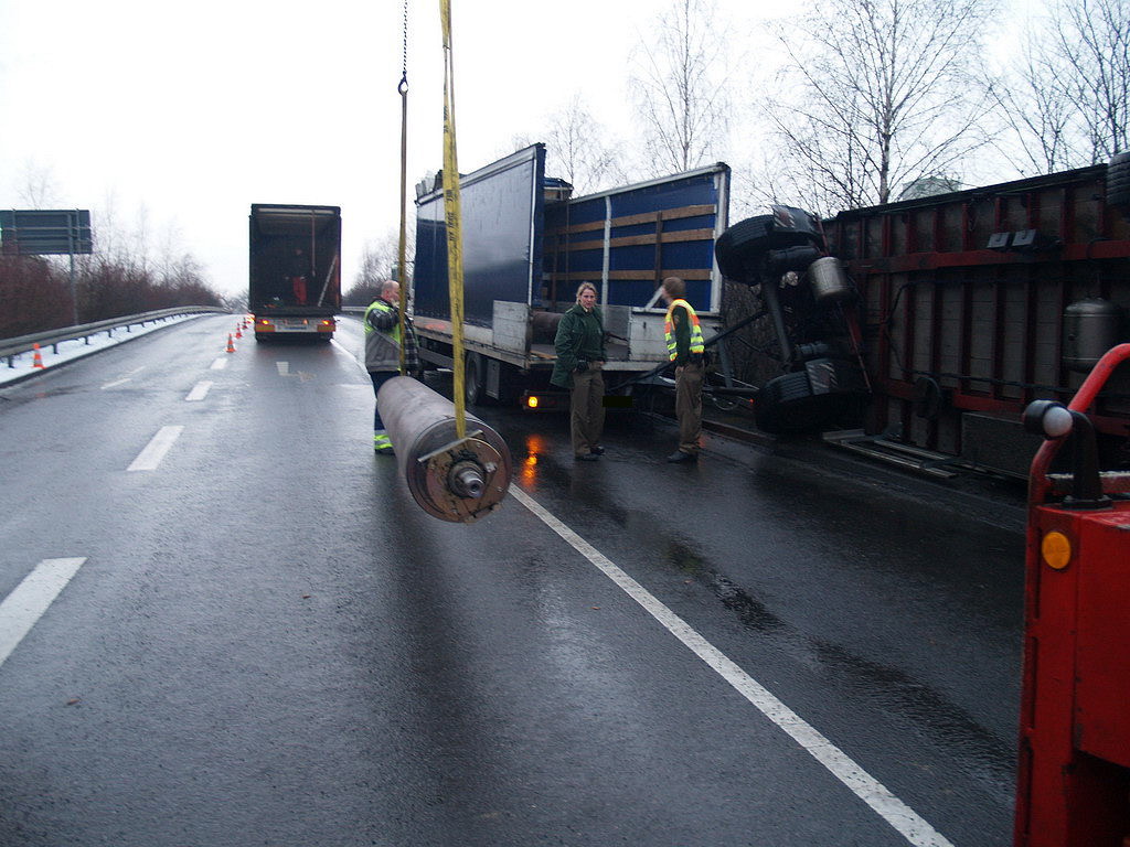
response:
[[(1109, 351), (1069, 409), (1086, 412), (1130, 344)], [(1016, 847), (1130, 844), (1130, 500), (1053, 501), (1045, 442), (1028, 484)]]

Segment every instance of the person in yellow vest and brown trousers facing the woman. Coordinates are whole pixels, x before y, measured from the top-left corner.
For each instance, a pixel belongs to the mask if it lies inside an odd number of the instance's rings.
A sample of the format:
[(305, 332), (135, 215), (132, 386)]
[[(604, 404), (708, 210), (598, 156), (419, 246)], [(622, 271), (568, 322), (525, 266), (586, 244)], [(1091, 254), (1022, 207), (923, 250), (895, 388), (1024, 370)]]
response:
[(698, 315), (683, 299), (686, 283), (678, 277), (663, 280), (662, 297), (667, 303), (663, 334), (667, 355), (675, 363), (675, 413), (679, 419), (679, 448), (667, 457), (668, 462), (698, 460), (699, 438), (703, 431), (703, 330)]

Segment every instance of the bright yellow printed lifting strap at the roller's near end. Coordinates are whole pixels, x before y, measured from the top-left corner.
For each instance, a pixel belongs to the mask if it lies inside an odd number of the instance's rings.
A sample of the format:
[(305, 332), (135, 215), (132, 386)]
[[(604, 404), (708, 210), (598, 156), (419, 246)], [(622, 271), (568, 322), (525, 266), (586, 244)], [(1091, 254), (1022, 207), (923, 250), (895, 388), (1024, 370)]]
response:
[(459, 209), (459, 163), (455, 156), (455, 70), (451, 49), (451, 0), (440, 0), (443, 28), (443, 211), (447, 229), (447, 295), (451, 299), (452, 370), (455, 436), (467, 437), (463, 398), (463, 236)]

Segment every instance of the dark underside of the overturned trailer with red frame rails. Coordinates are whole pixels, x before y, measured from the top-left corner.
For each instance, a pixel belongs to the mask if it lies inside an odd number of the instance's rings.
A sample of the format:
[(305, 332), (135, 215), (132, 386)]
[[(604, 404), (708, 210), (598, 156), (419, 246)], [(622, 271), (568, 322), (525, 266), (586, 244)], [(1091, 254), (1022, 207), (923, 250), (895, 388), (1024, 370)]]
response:
[[(864, 311), (863, 429), (1017, 477), (1032, 400), (1067, 401), (1124, 341), (1130, 160), (841, 212), (828, 248)], [(1106, 466), (1130, 465), (1130, 374), (1093, 410)]]

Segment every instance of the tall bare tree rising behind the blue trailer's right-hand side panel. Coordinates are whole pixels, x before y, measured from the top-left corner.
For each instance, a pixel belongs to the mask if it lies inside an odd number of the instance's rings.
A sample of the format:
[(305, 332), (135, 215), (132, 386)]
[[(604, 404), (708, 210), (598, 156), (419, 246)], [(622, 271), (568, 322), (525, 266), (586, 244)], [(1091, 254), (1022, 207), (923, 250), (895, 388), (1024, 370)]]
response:
[(725, 147), (724, 32), (713, 0), (675, 0), (654, 38), (636, 46), (629, 86), (646, 163), (657, 175), (705, 164)]

